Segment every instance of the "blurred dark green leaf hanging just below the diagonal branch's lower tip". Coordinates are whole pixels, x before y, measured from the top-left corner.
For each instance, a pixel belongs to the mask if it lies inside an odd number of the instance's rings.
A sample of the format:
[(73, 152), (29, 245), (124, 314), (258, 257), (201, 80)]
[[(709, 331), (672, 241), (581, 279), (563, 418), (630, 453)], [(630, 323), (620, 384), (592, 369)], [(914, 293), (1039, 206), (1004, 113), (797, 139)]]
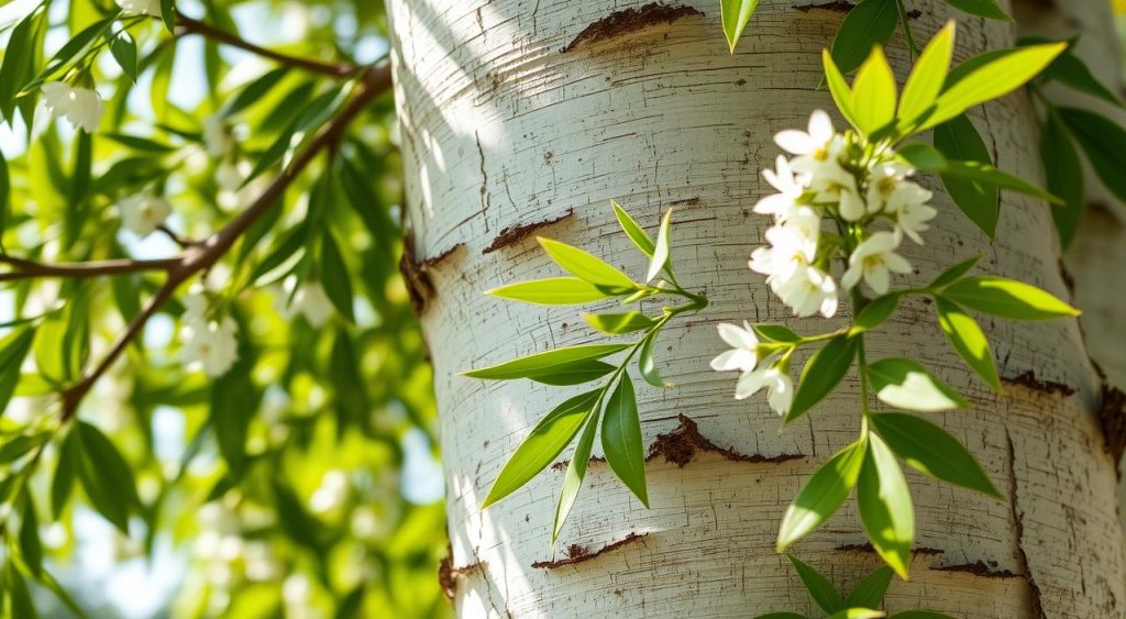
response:
[(93, 509), (129, 535), (129, 510), (137, 505), (133, 469), (100, 430), (84, 421), (77, 428), (78, 476)]

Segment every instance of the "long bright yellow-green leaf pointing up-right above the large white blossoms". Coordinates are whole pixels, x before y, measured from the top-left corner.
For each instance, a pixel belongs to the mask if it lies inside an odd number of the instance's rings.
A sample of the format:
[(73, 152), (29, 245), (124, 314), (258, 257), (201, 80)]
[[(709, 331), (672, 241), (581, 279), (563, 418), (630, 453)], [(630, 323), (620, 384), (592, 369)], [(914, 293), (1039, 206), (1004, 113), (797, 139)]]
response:
[(1033, 45), (993, 54), (975, 62), (971, 68), (955, 70), (947, 78), (946, 89), (938, 96), (935, 111), (922, 123), (919, 131), (945, 123), (965, 110), (1003, 97), (1020, 88), (1048, 65), (1066, 44)]

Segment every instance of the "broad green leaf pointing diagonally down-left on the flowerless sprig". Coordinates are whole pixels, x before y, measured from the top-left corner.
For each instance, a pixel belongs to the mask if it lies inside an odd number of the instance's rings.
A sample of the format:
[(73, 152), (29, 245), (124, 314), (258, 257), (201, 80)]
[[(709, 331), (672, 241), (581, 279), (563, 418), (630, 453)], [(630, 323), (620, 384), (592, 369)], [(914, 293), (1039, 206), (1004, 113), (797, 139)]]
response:
[(574, 440), (598, 401), (598, 393), (596, 389), (574, 396), (539, 420), (497, 476), (481, 509), (512, 494), (547, 468)]

